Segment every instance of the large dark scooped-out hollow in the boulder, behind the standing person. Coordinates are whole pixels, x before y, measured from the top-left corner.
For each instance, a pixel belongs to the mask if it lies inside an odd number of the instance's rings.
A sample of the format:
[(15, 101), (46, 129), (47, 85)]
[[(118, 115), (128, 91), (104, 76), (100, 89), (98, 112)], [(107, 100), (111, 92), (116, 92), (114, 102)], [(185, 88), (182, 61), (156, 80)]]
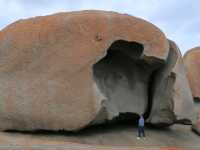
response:
[(139, 114), (148, 118), (154, 76), (163, 61), (142, 54), (142, 44), (119, 40), (110, 46), (104, 58), (94, 64), (94, 80), (105, 99), (92, 124), (130, 117), (137, 120)]

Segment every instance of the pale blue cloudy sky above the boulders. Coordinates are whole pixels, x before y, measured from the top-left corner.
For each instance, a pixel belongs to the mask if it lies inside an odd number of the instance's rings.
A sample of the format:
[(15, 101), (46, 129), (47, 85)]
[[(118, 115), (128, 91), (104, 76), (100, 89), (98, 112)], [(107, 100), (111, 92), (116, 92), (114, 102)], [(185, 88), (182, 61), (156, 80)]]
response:
[(61, 11), (112, 10), (150, 21), (184, 53), (200, 45), (199, 6), (199, 0), (0, 0), (0, 30), (21, 18)]

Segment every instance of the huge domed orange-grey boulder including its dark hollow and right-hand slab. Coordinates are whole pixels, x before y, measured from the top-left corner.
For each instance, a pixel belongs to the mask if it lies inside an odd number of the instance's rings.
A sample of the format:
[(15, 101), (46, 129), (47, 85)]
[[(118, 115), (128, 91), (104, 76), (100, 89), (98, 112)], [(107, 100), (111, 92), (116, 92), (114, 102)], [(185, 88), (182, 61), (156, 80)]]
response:
[(0, 66), (1, 130), (78, 130), (126, 114), (159, 125), (191, 120), (179, 50), (129, 15), (17, 21), (0, 31)]

